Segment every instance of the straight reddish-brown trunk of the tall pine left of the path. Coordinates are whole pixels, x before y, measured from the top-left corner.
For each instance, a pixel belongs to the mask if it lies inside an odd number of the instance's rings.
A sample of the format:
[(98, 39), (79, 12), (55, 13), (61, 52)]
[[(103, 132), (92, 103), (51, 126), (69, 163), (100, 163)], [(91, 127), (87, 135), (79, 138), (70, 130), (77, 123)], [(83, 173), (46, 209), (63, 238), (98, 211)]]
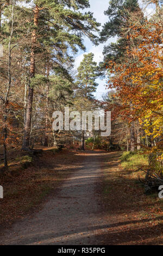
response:
[[(39, 19), (39, 8), (36, 6), (34, 9), (34, 26), (38, 25)], [(33, 106), (33, 93), (34, 89), (30, 86), (30, 80), (35, 76), (35, 47), (36, 47), (36, 29), (32, 33), (32, 48), (30, 53), (30, 79), (28, 85), (28, 99), (27, 99), (27, 111), (26, 111), (26, 121), (24, 124), (24, 134), (23, 134), (23, 144), (22, 149), (29, 149), (30, 141), (30, 128), (32, 119), (32, 106)]]

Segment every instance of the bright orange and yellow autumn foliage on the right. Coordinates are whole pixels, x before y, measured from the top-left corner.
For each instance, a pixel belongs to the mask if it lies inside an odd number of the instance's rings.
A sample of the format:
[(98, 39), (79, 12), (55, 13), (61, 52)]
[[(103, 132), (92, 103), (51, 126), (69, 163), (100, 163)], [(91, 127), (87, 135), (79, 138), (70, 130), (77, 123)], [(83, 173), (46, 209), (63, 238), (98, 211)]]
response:
[(162, 155), (162, 26), (160, 22), (146, 21), (130, 29), (130, 47), (126, 48), (122, 64), (110, 61), (106, 66), (111, 74), (108, 87), (115, 90), (114, 96), (121, 101), (121, 105), (114, 106), (116, 115), (129, 123), (139, 120), (146, 136), (159, 138), (152, 150), (159, 150)]

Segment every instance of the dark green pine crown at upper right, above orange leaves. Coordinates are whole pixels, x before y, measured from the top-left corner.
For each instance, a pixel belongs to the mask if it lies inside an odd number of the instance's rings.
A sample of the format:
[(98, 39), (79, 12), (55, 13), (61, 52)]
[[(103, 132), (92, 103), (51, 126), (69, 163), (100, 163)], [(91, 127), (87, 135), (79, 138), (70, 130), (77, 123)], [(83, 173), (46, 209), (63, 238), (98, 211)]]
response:
[(101, 31), (101, 42), (105, 42), (112, 36), (117, 36), (117, 42), (104, 46), (104, 62), (101, 67), (105, 69), (105, 63), (114, 60), (121, 63), (125, 56), (127, 47), (131, 46), (129, 40), (131, 16), (142, 22), (143, 13), (137, 0), (112, 0), (108, 10), (104, 12), (109, 21), (106, 22)]

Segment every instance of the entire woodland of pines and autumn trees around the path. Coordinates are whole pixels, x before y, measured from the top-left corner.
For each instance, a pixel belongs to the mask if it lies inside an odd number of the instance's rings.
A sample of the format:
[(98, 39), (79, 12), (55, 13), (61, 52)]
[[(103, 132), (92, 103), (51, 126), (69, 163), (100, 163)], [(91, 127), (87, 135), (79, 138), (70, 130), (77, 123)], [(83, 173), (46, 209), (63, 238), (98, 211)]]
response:
[[(145, 147), (162, 157), (161, 1), (147, 1), (156, 9), (147, 20), (137, 0), (111, 0), (100, 41), (116, 36), (117, 42), (104, 47), (99, 67), (88, 53), (77, 71), (73, 56), (78, 48), (85, 50), (84, 36), (98, 44), (99, 23), (92, 13), (83, 13), (89, 1), (25, 2), (0, 4), (0, 143), (5, 168), (9, 146), (30, 151), (36, 144), (56, 146), (80, 137), (84, 149), (84, 132), (52, 130), (53, 112), (63, 112), (65, 106), (79, 112), (111, 110), (112, 133), (106, 138), (110, 148), (114, 143), (131, 151)], [(109, 88), (103, 104), (94, 96), (96, 78), (102, 74)]]

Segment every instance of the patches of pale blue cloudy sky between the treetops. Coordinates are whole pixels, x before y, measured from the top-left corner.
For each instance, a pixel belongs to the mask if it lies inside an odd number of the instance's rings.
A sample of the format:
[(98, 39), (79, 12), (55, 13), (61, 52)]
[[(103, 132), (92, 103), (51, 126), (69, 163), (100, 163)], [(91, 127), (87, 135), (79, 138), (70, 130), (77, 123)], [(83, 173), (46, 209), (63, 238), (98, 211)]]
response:
[[(142, 0), (140, 0), (139, 2), (142, 9), (146, 7), (146, 9), (144, 10), (145, 15), (150, 17), (152, 14), (154, 14), (153, 5), (147, 6), (145, 4), (142, 4)], [(96, 18), (97, 22), (104, 25), (104, 23), (108, 21), (108, 17), (104, 15), (104, 11), (108, 9), (108, 6), (109, 6), (109, 0), (90, 0), (90, 8), (87, 10), (90, 10), (94, 14), (93, 16)], [(75, 61), (75, 68), (77, 68), (77, 66), (79, 66), (80, 62), (83, 60), (83, 54), (85, 53), (90, 53), (90, 52), (94, 53), (95, 54), (94, 60), (97, 63), (99, 63), (103, 59), (102, 52), (103, 52), (104, 45), (109, 44), (109, 42), (115, 42), (115, 41), (116, 41), (115, 38), (111, 38), (108, 40), (107, 43), (94, 46), (92, 45), (91, 41), (88, 38), (85, 38), (84, 42), (86, 46), (86, 52), (82, 52), (82, 51), (78, 52), (76, 56), (76, 61)], [(101, 100), (102, 95), (106, 93), (106, 90), (105, 90), (106, 80), (107, 80), (107, 77), (103, 80), (99, 78), (97, 79), (97, 83), (99, 84), (99, 86), (97, 88), (97, 92), (95, 93), (95, 97), (98, 100)]]

